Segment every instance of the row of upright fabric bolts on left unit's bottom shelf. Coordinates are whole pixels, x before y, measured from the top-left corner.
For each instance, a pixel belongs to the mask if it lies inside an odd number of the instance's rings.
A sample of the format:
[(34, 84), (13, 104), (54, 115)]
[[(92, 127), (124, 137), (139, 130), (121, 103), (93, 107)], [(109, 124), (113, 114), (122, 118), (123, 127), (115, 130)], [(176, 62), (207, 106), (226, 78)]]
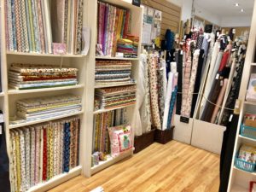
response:
[(60, 119), (10, 131), (11, 184), (26, 191), (79, 166), (80, 119)]

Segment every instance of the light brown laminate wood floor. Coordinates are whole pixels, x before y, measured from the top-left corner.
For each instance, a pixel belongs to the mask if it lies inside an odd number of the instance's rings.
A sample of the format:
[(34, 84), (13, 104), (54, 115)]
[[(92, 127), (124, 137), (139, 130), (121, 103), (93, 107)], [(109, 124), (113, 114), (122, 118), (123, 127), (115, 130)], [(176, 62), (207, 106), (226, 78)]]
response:
[(50, 192), (84, 192), (98, 186), (105, 192), (218, 192), (218, 167), (216, 154), (175, 141), (154, 143), (90, 178), (75, 177)]

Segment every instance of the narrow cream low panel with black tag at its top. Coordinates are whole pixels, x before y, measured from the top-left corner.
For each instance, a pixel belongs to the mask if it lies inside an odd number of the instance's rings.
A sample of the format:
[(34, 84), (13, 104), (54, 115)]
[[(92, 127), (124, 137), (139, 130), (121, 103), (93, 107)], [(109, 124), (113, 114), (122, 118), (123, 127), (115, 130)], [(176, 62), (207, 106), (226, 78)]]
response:
[(181, 143), (191, 143), (191, 134), (193, 127), (193, 119), (189, 118), (189, 124), (180, 122), (180, 115), (174, 115), (173, 122), (175, 129), (173, 130), (173, 140)]

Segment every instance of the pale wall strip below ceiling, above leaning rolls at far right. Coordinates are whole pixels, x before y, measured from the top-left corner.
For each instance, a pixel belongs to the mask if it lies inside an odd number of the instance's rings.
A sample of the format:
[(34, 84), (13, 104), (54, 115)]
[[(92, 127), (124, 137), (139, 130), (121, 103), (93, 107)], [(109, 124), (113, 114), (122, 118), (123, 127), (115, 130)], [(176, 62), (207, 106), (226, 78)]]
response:
[(251, 26), (252, 17), (223, 17), (221, 18), (220, 26), (235, 27), (235, 26)]

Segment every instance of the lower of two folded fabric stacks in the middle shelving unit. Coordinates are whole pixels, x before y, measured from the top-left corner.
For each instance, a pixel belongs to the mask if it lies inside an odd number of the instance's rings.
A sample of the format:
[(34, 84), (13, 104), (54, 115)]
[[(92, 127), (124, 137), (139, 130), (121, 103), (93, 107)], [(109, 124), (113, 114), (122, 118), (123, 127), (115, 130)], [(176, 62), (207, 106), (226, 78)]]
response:
[(100, 101), (102, 109), (134, 104), (136, 102), (136, 85), (96, 89), (96, 100)]

